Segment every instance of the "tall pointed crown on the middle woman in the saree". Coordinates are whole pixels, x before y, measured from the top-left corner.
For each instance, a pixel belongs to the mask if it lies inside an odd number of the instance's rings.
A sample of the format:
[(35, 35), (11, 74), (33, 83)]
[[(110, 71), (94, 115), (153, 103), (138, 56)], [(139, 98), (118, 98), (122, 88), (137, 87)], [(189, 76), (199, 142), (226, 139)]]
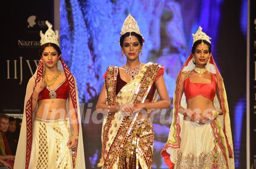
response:
[(135, 33), (139, 34), (140, 36), (142, 36), (142, 33), (140, 33), (140, 31), (139, 31), (139, 26), (138, 26), (136, 20), (134, 19), (134, 17), (132, 17), (132, 15), (130, 15), (130, 13), (124, 20), (122, 32), (120, 34), (123, 35), (127, 32), (135, 32)]

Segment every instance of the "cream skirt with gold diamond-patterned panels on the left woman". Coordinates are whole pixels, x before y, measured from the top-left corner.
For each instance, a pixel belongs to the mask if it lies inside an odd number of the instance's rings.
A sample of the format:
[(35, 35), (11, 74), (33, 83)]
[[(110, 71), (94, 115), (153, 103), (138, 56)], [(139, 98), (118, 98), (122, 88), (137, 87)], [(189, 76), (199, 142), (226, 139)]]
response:
[(43, 120), (36, 118), (29, 169), (72, 169), (69, 118)]

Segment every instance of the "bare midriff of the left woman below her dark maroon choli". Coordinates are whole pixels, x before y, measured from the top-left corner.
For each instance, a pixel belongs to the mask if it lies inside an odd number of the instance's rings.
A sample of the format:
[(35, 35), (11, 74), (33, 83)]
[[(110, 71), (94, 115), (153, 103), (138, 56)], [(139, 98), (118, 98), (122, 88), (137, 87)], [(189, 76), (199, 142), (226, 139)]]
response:
[(36, 117), (44, 120), (67, 118), (66, 99), (55, 98), (54, 102), (51, 99), (38, 101)]

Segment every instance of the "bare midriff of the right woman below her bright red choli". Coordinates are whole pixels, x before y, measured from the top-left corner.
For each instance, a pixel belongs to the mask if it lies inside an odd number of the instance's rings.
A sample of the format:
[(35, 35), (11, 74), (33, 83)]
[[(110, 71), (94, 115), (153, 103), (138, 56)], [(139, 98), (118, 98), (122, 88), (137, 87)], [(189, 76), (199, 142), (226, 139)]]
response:
[[(215, 110), (213, 101), (207, 97), (198, 95), (187, 100), (187, 109), (191, 109), (193, 113), (201, 117), (206, 117), (209, 112)], [(190, 117), (184, 116), (184, 120), (190, 121)]]

